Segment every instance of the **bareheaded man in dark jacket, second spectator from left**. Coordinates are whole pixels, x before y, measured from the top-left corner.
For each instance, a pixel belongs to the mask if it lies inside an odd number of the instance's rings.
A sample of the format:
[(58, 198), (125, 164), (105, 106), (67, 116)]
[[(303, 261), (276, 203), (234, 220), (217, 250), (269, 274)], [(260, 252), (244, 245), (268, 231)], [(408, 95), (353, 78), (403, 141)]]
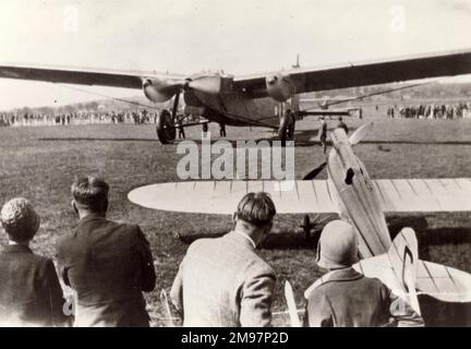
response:
[(136, 225), (106, 219), (109, 185), (76, 179), (72, 206), (80, 222), (57, 246), (61, 276), (76, 291), (75, 326), (148, 326), (143, 291), (154, 290), (149, 243)]

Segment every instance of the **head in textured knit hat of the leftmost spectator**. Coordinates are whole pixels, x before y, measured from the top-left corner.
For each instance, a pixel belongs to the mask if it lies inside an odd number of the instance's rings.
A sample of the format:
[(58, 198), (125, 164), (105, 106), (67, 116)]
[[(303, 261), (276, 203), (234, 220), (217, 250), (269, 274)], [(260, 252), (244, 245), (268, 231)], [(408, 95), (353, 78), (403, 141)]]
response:
[(24, 197), (15, 197), (3, 205), (0, 224), (9, 239), (14, 242), (27, 242), (39, 228), (40, 218), (33, 205)]

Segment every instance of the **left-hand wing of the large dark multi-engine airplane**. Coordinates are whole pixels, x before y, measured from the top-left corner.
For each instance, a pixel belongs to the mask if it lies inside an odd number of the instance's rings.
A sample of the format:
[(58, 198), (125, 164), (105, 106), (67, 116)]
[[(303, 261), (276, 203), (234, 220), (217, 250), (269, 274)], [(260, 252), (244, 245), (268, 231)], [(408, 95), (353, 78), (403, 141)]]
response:
[(0, 77), (4, 79), (36, 80), (51, 83), (100, 85), (125, 88), (142, 88), (143, 80), (146, 77), (178, 80), (182, 79), (182, 76), (183, 75), (159, 74), (156, 72), (144, 71), (0, 64)]

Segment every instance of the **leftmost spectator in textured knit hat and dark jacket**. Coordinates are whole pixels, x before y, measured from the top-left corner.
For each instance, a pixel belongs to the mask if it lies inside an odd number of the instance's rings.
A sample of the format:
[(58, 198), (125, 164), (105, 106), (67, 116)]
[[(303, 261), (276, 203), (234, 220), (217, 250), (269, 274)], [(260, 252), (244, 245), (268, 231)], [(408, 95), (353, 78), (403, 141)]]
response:
[(29, 249), (39, 221), (23, 197), (10, 200), (1, 209), (0, 224), (8, 234), (8, 245), (0, 252), (1, 326), (62, 326), (68, 322), (52, 261)]

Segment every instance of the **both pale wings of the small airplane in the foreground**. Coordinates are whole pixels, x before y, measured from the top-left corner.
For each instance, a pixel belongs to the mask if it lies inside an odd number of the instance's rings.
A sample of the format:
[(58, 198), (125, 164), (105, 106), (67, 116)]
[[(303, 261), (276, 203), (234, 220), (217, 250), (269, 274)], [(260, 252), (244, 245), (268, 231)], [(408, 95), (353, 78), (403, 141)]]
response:
[[(471, 212), (471, 179), (395, 179), (373, 181), (386, 213)], [(280, 214), (338, 213), (326, 180), (184, 181), (131, 191), (129, 200), (147, 208), (232, 214), (249, 192), (270, 193)]]

